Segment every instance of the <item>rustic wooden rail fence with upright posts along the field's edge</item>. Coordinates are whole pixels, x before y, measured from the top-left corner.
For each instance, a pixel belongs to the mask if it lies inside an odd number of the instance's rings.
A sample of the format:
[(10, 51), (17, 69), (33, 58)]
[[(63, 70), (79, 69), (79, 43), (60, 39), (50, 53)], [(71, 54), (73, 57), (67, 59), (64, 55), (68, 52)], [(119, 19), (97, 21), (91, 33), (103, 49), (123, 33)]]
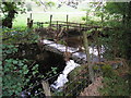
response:
[(102, 26), (87, 25), (86, 23), (69, 22), (69, 15), (67, 15), (66, 22), (64, 21), (52, 21), (52, 15), (50, 15), (49, 22), (33, 22), (32, 14), (31, 14), (31, 17), (27, 19), (27, 26), (32, 27), (35, 24), (39, 28), (48, 26), (48, 27), (53, 27), (56, 29), (59, 29), (61, 27), (66, 27), (67, 29), (69, 29), (69, 28), (78, 28), (80, 30), (88, 30), (91, 28), (96, 28), (96, 29), (97, 28), (107, 28), (107, 27), (102, 27)]

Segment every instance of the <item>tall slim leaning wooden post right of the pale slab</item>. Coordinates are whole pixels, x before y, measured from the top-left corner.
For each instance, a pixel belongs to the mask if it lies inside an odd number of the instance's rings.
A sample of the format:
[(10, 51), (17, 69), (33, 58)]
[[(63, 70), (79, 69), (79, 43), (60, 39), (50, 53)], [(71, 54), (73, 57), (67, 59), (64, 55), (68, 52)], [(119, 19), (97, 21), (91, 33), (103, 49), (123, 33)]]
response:
[(84, 47), (85, 47), (85, 52), (86, 52), (86, 60), (88, 63), (90, 79), (92, 82), (94, 82), (94, 71), (93, 71), (93, 64), (92, 64), (91, 56), (90, 56), (88, 40), (87, 40), (86, 32), (83, 32), (83, 41), (84, 41)]

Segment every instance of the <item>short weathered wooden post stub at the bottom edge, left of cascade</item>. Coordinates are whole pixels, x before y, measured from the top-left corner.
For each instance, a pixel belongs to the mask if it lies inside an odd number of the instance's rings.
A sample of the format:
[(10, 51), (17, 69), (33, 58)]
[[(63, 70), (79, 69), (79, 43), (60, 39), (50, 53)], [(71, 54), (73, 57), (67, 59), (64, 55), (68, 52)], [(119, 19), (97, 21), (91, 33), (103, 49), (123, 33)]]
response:
[(45, 96), (51, 96), (50, 87), (47, 81), (41, 82)]

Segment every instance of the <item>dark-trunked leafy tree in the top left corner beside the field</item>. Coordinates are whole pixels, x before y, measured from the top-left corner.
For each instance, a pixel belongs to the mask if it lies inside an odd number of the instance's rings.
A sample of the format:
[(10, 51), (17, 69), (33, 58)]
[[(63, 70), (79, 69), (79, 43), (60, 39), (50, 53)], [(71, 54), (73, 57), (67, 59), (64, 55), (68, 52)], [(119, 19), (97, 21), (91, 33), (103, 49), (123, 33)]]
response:
[[(36, 4), (44, 4), (45, 9), (51, 5), (55, 5), (53, 2), (38, 2), (36, 0), (32, 0), (34, 2), (36, 2)], [(13, 24), (13, 20), (15, 19), (16, 14), (19, 13), (24, 13), (25, 12), (25, 2), (22, 2), (21, 0), (16, 0), (16, 2), (12, 1), (5, 1), (2, 0), (1, 3), (1, 10), (3, 13), (3, 17), (2, 17), (2, 27), (9, 27), (12, 28), (12, 24)]]

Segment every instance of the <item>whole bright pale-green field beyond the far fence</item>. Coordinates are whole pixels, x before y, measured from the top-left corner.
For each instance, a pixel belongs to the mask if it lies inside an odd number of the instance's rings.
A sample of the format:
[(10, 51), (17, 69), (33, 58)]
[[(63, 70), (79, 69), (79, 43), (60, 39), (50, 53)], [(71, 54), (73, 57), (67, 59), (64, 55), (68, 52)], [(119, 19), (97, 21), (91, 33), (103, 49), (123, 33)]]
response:
[[(86, 7), (86, 4), (81, 4), (78, 9), (69, 5), (62, 5), (59, 9), (57, 9), (57, 7), (52, 7), (48, 8), (48, 12), (44, 12), (43, 5), (38, 7), (36, 3), (32, 3), (32, 16), (34, 22), (49, 22), (50, 14), (52, 14), (52, 21), (67, 21), (67, 14), (69, 14), (69, 22), (81, 23), (83, 22), (82, 16), (86, 16), (86, 13), (82, 12), (82, 8), (84, 7)], [(26, 27), (27, 17), (29, 17), (29, 13), (19, 14), (13, 22), (13, 27)]]

